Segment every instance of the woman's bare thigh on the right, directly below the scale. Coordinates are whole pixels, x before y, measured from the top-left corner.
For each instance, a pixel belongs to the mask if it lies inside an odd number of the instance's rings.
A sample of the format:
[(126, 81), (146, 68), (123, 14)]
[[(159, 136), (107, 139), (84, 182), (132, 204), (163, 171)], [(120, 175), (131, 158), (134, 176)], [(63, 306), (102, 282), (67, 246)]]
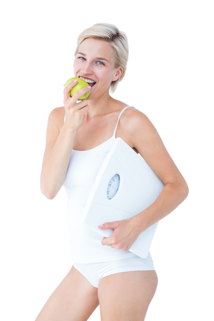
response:
[(98, 287), (101, 320), (144, 320), (157, 288), (155, 270), (120, 272), (103, 277)]

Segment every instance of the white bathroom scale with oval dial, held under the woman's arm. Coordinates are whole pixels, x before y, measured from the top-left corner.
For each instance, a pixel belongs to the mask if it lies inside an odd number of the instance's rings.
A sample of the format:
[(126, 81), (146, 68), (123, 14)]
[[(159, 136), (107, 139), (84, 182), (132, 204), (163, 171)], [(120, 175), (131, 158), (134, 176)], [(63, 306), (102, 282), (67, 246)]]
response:
[[(114, 230), (101, 230), (98, 225), (129, 219), (142, 212), (163, 188), (164, 184), (144, 159), (118, 137), (98, 172), (80, 222), (109, 237)], [(129, 251), (146, 258), (159, 224), (160, 221), (142, 232)]]

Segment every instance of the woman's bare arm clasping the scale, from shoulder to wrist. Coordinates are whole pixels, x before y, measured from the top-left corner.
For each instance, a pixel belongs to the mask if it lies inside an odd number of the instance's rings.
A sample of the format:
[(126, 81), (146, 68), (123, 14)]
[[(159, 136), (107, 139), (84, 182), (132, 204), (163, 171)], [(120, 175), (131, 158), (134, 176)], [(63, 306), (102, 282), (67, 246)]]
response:
[(156, 125), (148, 115), (138, 110), (130, 111), (125, 127), (134, 146), (153, 172), (160, 178), (164, 188), (147, 209), (133, 217), (140, 230), (171, 215), (188, 198), (190, 189), (179, 167), (167, 150)]

